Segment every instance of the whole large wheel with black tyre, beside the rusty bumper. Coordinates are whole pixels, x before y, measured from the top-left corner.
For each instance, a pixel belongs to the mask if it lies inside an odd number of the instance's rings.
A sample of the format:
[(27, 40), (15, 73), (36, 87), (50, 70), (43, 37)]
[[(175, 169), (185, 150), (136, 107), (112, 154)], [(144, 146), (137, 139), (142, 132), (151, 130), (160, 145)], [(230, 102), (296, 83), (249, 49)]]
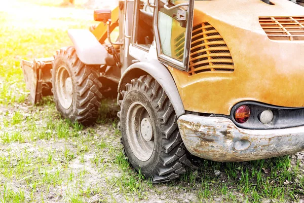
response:
[[(119, 105), (124, 152), (133, 167), (154, 183), (168, 182), (185, 173), (185, 165), (190, 165), (191, 162), (186, 156), (174, 109), (159, 83), (149, 75), (133, 79), (131, 84), (126, 84), (126, 90), (122, 91)], [(133, 115), (133, 107), (137, 108), (139, 114), (135, 112)], [(141, 125), (144, 119), (148, 119), (148, 126), (153, 128), (153, 141), (146, 140), (142, 134), (145, 133)], [(135, 126), (134, 133), (130, 133), (132, 126)], [(133, 139), (140, 142), (137, 149)], [(145, 149), (149, 153), (145, 153)]]

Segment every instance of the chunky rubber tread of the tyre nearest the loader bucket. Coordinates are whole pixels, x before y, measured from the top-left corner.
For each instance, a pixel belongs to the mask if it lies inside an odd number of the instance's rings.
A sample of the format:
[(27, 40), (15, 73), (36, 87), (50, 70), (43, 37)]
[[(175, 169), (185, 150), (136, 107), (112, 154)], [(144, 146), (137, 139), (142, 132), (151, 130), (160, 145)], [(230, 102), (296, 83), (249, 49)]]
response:
[(94, 123), (98, 118), (98, 110), (102, 98), (100, 92), (102, 84), (98, 80), (98, 66), (82, 63), (73, 46), (58, 50), (57, 55), (54, 57), (55, 60), (57, 57), (60, 57), (70, 65), (71, 77), (74, 79), (75, 93), (77, 94), (76, 101), (73, 101), (76, 102), (76, 108), (71, 112), (71, 115), (65, 115), (63, 112), (60, 112), (58, 108), (60, 102), (58, 98), (54, 97), (58, 111), (63, 117), (71, 119), (72, 122), (79, 122), (84, 125)]

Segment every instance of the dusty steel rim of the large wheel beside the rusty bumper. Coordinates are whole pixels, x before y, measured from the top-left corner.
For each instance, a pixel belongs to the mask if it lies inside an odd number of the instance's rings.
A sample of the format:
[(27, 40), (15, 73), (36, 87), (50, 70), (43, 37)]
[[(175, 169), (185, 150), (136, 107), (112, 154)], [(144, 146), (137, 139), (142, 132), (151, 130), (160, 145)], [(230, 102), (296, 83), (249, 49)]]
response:
[[(146, 120), (150, 123), (148, 124)], [(148, 129), (149, 126), (151, 126), (151, 129), (147, 132), (146, 129)], [(143, 135), (142, 133), (145, 134)], [(146, 133), (151, 133), (152, 136), (150, 136), (150, 134), (147, 135)], [(154, 128), (148, 111), (139, 101), (134, 101), (128, 108), (126, 116), (126, 134), (133, 154), (139, 160), (147, 161), (154, 151)], [(151, 137), (150, 140), (147, 139), (148, 137)]]

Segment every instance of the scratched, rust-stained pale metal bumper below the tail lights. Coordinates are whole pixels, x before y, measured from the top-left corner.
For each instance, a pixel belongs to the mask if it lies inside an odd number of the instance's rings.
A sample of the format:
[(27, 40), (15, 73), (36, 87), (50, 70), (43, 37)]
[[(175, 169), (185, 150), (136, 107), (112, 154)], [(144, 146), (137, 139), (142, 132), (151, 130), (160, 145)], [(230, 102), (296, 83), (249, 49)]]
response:
[(304, 150), (304, 126), (250, 130), (237, 127), (229, 118), (189, 114), (177, 123), (187, 150), (209, 160), (249, 161)]

